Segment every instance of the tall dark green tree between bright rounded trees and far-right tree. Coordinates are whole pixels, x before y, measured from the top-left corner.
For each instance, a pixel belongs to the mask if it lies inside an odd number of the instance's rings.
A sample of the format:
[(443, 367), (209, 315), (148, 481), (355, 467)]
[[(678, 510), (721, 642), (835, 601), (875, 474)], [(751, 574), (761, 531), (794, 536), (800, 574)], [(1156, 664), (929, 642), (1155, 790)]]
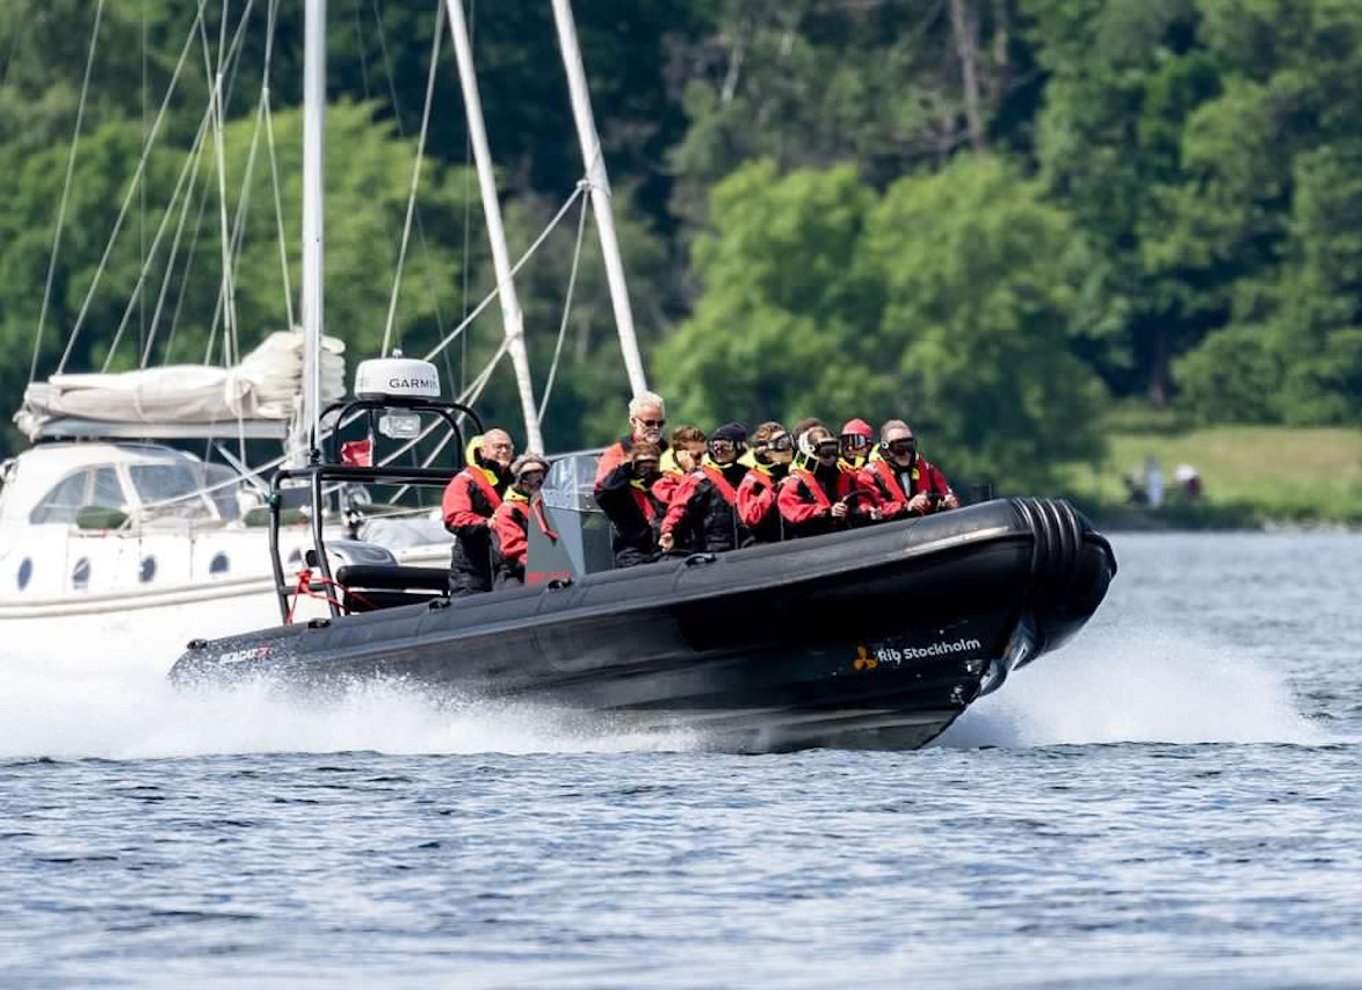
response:
[[(1159, 264), (1145, 238), (1170, 221), (1156, 191), (1181, 178), (1188, 116), (1219, 79), (1196, 44), (1194, 0), (1024, 0), (1049, 74), (1036, 155), (1081, 248), (1079, 353), (1118, 394), (1165, 403), (1169, 366), (1194, 346), (1224, 293)], [(1214, 278), (1211, 279), (1214, 283)]]

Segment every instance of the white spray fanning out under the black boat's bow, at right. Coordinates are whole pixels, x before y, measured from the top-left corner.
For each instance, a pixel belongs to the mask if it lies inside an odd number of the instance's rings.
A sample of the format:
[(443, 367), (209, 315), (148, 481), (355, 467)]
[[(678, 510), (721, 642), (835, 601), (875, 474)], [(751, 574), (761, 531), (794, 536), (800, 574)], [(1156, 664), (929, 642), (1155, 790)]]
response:
[(1092, 626), (1015, 673), (937, 745), (1331, 741), (1299, 711), (1286, 678), (1261, 662), (1171, 630), (1115, 624)]

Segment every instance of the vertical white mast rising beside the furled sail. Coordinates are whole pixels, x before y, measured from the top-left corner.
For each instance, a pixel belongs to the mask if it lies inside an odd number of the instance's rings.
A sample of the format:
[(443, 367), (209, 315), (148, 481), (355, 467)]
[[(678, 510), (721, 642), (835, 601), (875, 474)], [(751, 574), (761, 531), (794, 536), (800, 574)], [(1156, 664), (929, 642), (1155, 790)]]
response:
[(302, 425), (316, 456), (321, 418), (324, 234), (323, 181), (327, 118), (327, 0), (306, 0), (302, 42)]

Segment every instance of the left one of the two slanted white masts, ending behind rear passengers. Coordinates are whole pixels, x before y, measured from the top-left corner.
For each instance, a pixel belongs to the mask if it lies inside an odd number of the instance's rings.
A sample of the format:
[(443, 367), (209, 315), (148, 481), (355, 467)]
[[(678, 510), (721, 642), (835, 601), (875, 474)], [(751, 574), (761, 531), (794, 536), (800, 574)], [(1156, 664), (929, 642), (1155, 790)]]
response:
[(501, 226), (501, 203), (497, 199), (497, 178), (488, 148), (488, 129), (482, 120), (482, 99), (478, 95), (478, 75), (473, 67), (473, 44), (463, 16), (463, 0), (445, 0), (449, 12), (449, 33), (454, 53), (459, 61), (459, 84), (463, 90), (463, 109), (469, 120), (469, 140), (478, 169), (478, 189), (482, 192), (482, 215), (488, 223), (492, 245), (492, 266), (497, 275), (497, 301), (501, 304), (501, 327), (505, 332), (515, 380), (520, 392), (520, 413), (524, 418), (526, 444), (531, 451), (543, 451), (539, 432), (539, 411), (534, 403), (534, 383), (530, 379), (530, 355), (524, 347), (524, 315), (511, 276), (511, 257), (507, 253), (505, 229)]

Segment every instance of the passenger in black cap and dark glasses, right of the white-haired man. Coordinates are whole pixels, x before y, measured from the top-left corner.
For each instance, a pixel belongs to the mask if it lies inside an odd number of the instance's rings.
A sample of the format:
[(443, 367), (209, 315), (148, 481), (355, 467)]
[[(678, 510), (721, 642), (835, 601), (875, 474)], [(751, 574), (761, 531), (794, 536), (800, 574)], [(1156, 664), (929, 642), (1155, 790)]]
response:
[(738, 485), (748, 474), (748, 428), (725, 424), (710, 434), (700, 470), (686, 475), (671, 496), (662, 520), (658, 546), (670, 552), (678, 534), (695, 534), (699, 553), (723, 553), (752, 542), (752, 534), (738, 519)]

